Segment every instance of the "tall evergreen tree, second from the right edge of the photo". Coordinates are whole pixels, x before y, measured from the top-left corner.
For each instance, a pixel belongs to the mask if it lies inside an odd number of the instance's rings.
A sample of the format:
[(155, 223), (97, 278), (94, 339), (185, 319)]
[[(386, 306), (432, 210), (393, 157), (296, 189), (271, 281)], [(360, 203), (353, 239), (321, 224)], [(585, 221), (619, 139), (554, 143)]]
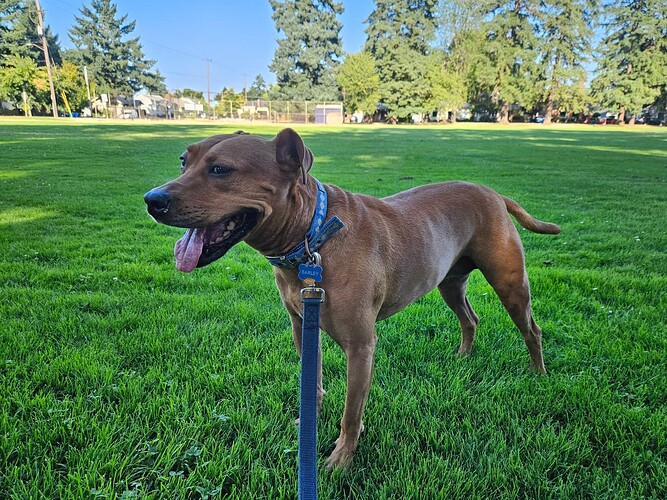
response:
[(544, 0), (540, 5), (538, 51), (547, 125), (555, 108), (581, 112), (587, 104), (584, 64), (591, 52), (595, 9), (595, 0)]

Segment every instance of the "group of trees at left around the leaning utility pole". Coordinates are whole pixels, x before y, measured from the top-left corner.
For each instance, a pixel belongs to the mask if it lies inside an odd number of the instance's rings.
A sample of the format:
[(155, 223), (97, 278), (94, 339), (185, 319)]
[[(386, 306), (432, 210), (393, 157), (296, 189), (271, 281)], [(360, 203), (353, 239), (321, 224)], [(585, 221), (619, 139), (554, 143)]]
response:
[[(36, 2), (0, 2), (0, 100), (16, 103), (23, 113), (52, 107), (40, 32), (48, 42), (56, 106), (81, 110), (100, 94), (132, 95), (140, 89), (163, 93), (164, 78), (146, 59), (135, 22), (118, 15), (110, 0), (92, 0), (75, 17), (68, 36), (74, 48), (62, 50), (57, 35), (39, 25)], [(84, 68), (86, 71), (84, 72)], [(88, 76), (88, 85), (85, 77)]]

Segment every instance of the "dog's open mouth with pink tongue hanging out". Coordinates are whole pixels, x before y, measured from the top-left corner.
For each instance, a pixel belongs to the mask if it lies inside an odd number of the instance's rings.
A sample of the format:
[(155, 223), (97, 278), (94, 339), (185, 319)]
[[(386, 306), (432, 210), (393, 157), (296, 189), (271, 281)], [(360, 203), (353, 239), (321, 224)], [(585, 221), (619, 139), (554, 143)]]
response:
[(189, 273), (218, 260), (245, 238), (258, 222), (256, 210), (244, 210), (212, 226), (188, 229), (174, 246), (176, 269)]

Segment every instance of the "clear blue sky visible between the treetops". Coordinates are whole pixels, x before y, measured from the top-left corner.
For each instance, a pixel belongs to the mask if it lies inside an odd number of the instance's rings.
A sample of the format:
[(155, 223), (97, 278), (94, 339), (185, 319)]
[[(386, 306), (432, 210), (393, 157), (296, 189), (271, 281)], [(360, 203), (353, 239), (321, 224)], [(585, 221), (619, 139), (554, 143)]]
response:
[[(211, 93), (223, 87), (236, 91), (248, 87), (261, 74), (275, 82), (269, 64), (280, 37), (271, 19), (268, 0), (113, 0), (117, 17), (127, 14), (136, 21), (132, 36), (138, 36), (147, 59), (165, 77), (167, 89), (191, 88), (207, 91), (207, 68)], [(40, 0), (44, 24), (58, 34), (63, 49), (72, 48), (68, 31), (80, 9), (90, 0)], [(341, 36), (343, 50), (358, 52), (366, 40), (364, 20), (372, 12), (373, 0), (343, 1), (345, 12)], [(206, 59), (211, 62), (207, 63)]]

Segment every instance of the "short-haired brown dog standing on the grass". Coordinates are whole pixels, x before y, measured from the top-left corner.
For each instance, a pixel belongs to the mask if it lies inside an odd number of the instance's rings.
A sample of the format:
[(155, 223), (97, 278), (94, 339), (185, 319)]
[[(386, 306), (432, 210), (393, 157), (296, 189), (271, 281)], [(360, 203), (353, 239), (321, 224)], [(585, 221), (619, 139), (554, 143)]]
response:
[[(291, 253), (291, 261), (270, 260), (301, 353), (304, 285), (293, 267), (307, 259), (303, 242), (322, 196), (318, 182), (307, 174), (313, 162), (310, 150), (291, 129), (273, 140), (237, 132), (188, 146), (181, 161), (180, 177), (145, 195), (148, 211), (158, 222), (189, 228), (176, 243), (177, 268), (189, 272), (210, 264), (241, 240), (267, 257)], [(523, 247), (507, 213), (538, 233), (558, 234), (557, 225), (534, 219), (489, 188), (464, 182), (422, 186), (384, 199), (333, 185), (324, 191), (326, 220), (338, 217), (344, 227), (335, 234), (330, 231), (328, 239), (321, 232), (310, 234), (308, 243), (310, 251), (321, 254), (324, 268), (321, 286), (327, 300), (321, 327), (347, 357), (345, 410), (328, 468), (347, 465), (357, 448), (371, 384), (376, 321), (438, 287), (461, 323), (459, 352), (470, 352), (479, 321), (466, 298), (474, 269), (481, 270), (521, 331), (534, 370), (545, 372)], [(295, 247), (297, 252), (291, 252)], [(323, 395), (320, 364), (318, 409)]]

